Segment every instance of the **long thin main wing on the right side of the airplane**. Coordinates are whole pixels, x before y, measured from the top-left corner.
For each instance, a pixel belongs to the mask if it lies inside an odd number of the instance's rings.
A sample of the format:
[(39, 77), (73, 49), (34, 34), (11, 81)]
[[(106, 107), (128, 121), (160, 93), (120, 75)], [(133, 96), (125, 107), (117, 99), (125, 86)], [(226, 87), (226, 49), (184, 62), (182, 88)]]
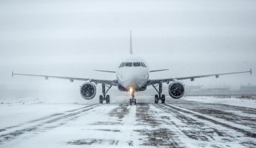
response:
[(169, 78), (169, 79), (150, 79), (148, 80), (148, 85), (154, 85), (156, 83), (169, 83), (170, 81), (175, 80), (183, 80), (183, 79), (190, 79), (191, 81), (194, 81), (195, 78), (201, 78), (201, 77), (212, 77), (215, 76), (218, 78), (220, 75), (231, 75), (236, 73), (252, 73), (252, 71), (241, 71), (241, 72), (234, 72), (234, 73), (219, 73), (219, 74), (212, 74), (212, 75), (195, 75), (191, 77), (176, 77), (176, 78)]

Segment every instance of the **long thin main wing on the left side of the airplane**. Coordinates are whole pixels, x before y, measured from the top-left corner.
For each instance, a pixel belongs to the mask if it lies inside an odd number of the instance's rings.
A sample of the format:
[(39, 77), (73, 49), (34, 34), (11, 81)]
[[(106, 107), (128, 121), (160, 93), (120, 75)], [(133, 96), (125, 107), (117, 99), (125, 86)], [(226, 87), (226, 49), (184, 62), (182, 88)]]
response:
[(51, 75), (31, 75), (31, 74), (22, 74), (22, 73), (13, 73), (12, 72), (12, 77), (13, 75), (25, 75), (25, 76), (34, 76), (34, 77), (44, 77), (45, 79), (49, 78), (56, 78), (56, 79), (69, 79), (69, 81), (73, 82), (74, 80), (77, 81), (91, 81), (94, 83), (104, 83), (107, 85), (117, 85), (116, 80), (104, 80), (104, 79), (85, 79), (85, 78), (79, 78), (79, 77), (59, 77), (59, 76), (51, 76)]

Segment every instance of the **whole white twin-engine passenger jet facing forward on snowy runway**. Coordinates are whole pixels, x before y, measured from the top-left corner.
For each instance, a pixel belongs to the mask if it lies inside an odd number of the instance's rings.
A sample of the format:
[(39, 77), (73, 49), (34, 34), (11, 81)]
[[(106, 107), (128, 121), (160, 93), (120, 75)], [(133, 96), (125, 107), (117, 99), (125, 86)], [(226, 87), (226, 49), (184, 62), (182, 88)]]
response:
[(130, 54), (127, 59), (120, 63), (117, 71), (103, 71), (95, 70), (106, 73), (115, 73), (117, 79), (114, 80), (104, 80), (104, 79), (88, 79), (88, 78), (78, 78), (78, 77), (59, 77), (51, 75), (32, 75), (32, 74), (22, 74), (22, 73), (13, 73), (13, 75), (25, 75), (25, 76), (35, 76), (35, 77), (44, 77), (45, 79), (57, 78), (57, 79), (69, 79), (71, 82), (75, 81), (86, 81), (80, 86), (80, 94), (85, 100), (91, 100), (96, 96), (96, 85), (98, 83), (102, 84), (102, 95), (99, 96), (99, 103), (102, 104), (106, 101), (106, 104), (110, 103), (110, 96), (106, 95), (108, 90), (112, 86), (117, 86), (119, 91), (127, 91), (131, 94), (129, 100), (130, 105), (136, 105), (135, 92), (145, 91), (148, 86), (152, 85), (156, 89), (157, 93), (154, 96), (154, 102), (158, 104), (161, 100), (162, 104), (165, 103), (165, 95), (162, 94), (162, 84), (168, 84), (168, 93), (174, 99), (181, 98), (185, 93), (185, 87), (183, 83), (179, 80), (190, 79), (194, 81), (197, 78), (201, 77), (212, 77), (215, 76), (218, 78), (220, 75), (231, 75), (236, 73), (252, 73), (252, 71), (241, 71), (234, 73), (218, 73), (211, 75), (195, 75), (190, 77), (171, 77), (168, 79), (150, 79), (150, 73), (155, 73), (158, 71), (167, 71), (168, 69), (158, 69), (152, 70), (148, 69), (146, 61), (141, 57), (133, 55), (132, 48), (132, 38), (130, 31)]

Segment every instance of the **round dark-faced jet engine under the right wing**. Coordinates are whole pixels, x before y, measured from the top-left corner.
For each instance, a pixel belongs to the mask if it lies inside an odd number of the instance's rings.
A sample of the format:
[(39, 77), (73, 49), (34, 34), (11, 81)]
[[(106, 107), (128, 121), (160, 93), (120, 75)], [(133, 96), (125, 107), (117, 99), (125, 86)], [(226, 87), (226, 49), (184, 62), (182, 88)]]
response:
[(184, 95), (185, 87), (183, 83), (174, 81), (169, 85), (169, 94), (174, 99), (179, 99)]

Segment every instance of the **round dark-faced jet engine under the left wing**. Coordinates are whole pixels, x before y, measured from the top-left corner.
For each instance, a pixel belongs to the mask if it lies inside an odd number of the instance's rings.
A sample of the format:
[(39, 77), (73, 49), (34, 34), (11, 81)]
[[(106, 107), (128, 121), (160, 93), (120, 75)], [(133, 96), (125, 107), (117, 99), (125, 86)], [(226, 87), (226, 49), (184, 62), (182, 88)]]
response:
[(93, 83), (86, 82), (80, 87), (80, 94), (82, 98), (91, 100), (96, 95), (96, 87)]

